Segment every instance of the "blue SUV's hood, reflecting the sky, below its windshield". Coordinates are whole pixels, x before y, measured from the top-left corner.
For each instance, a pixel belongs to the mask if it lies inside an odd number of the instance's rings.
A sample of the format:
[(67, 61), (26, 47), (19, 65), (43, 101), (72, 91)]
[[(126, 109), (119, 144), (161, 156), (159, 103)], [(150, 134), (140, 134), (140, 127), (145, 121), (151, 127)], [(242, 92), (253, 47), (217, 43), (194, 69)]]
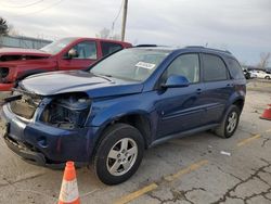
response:
[(91, 98), (139, 93), (143, 85), (96, 76), (82, 71), (65, 71), (33, 75), (20, 82), (26, 91), (39, 95), (86, 92)]

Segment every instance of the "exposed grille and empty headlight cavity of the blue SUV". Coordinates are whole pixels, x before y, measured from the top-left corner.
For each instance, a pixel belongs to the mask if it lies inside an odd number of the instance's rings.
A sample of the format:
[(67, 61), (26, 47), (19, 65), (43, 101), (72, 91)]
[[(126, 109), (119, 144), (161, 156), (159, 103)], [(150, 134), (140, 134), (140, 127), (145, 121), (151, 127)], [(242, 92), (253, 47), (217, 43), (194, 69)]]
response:
[(5, 102), (10, 102), (14, 114), (25, 119), (33, 119), (40, 107), (35, 120), (62, 129), (82, 128), (91, 110), (91, 100), (85, 93), (41, 97), (16, 89)]

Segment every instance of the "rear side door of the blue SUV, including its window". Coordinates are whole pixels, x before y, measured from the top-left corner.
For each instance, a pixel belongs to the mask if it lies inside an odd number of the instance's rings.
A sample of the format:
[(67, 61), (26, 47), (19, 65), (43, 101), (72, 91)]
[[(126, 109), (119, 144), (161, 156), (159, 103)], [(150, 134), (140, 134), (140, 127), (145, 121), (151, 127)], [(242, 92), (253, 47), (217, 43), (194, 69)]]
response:
[(206, 106), (204, 124), (219, 123), (228, 105), (229, 98), (234, 92), (233, 79), (222, 58), (216, 54), (203, 53), (203, 80), (202, 93)]

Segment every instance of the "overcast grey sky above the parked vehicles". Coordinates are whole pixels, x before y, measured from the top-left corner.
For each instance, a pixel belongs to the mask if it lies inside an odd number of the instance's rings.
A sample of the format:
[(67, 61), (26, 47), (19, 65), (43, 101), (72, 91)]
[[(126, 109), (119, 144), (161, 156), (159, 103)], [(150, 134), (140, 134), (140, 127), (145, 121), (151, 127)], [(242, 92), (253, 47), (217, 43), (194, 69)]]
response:
[[(22, 35), (95, 37), (112, 28), (122, 0), (0, 0), (0, 16)], [(120, 33), (121, 14), (114, 33)], [(126, 41), (208, 46), (257, 64), (271, 52), (271, 0), (129, 0)]]

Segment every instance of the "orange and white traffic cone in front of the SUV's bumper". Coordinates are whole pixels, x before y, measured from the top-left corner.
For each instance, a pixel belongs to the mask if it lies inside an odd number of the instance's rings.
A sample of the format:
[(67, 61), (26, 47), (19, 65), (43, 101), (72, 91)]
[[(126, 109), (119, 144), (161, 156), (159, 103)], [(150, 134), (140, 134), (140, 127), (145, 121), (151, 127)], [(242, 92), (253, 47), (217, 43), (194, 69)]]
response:
[(74, 162), (66, 163), (59, 204), (80, 204)]

